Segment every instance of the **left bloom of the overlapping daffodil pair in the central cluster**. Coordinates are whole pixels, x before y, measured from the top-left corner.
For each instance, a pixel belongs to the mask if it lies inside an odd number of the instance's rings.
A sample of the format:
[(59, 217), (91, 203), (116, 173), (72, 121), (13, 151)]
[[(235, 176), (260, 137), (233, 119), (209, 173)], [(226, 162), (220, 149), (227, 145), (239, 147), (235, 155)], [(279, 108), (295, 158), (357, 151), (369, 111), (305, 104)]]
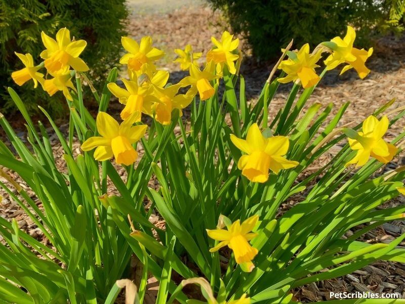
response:
[[(135, 112), (142, 112), (151, 116), (153, 103), (160, 102), (160, 100), (153, 95), (153, 88), (139, 85), (136, 75), (133, 81), (126, 79), (122, 81), (126, 89), (118, 87), (115, 83), (109, 83), (107, 85), (108, 90), (118, 98), (118, 101), (125, 104), (124, 109), (121, 111), (121, 119), (126, 120)], [(141, 116), (139, 115), (137, 119), (137, 122), (140, 121)]]

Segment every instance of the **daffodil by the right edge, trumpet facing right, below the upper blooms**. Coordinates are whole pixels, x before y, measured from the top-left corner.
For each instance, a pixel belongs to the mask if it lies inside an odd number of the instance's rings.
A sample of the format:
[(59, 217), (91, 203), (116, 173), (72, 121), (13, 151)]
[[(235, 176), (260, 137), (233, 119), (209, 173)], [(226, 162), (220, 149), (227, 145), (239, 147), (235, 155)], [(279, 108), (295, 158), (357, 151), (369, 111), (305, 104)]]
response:
[(369, 116), (357, 133), (356, 139), (349, 138), (350, 148), (357, 150), (356, 156), (347, 162), (346, 166), (356, 164), (356, 167), (365, 165), (370, 156), (386, 164), (390, 162), (397, 152), (397, 148), (384, 141), (383, 136), (388, 130), (389, 121), (384, 116), (380, 121)]

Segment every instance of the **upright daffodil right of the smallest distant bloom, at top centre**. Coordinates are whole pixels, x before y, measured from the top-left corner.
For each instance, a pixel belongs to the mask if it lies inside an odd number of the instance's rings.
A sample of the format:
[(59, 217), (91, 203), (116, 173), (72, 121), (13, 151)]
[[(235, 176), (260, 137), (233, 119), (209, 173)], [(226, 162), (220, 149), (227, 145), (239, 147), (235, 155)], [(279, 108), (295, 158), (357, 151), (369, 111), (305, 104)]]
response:
[(237, 49), (239, 45), (239, 39), (233, 40), (233, 35), (231, 35), (228, 31), (224, 31), (221, 37), (221, 41), (215, 39), (215, 37), (211, 37), (212, 43), (217, 47), (216, 49), (212, 49), (207, 53), (207, 62), (211, 60), (214, 61), (215, 64), (220, 65), (220, 70), (222, 71), (222, 67), (226, 64), (228, 66), (229, 72), (231, 74), (236, 73), (236, 67), (234, 61), (239, 58), (239, 55), (234, 54), (233, 51)]

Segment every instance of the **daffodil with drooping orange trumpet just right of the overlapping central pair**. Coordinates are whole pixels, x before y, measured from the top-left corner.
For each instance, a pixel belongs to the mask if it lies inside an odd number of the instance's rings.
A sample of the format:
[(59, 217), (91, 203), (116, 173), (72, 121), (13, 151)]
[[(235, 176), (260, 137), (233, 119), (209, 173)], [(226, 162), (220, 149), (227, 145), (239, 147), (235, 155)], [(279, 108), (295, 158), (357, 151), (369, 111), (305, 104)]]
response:
[(215, 89), (210, 84), (210, 81), (218, 78), (215, 75), (215, 63), (210, 61), (207, 63), (203, 71), (201, 71), (195, 64), (190, 65), (190, 76), (183, 78), (180, 81), (182, 87), (191, 86), (188, 95), (195, 95), (199, 93), (201, 100), (207, 100), (212, 97), (215, 93)]

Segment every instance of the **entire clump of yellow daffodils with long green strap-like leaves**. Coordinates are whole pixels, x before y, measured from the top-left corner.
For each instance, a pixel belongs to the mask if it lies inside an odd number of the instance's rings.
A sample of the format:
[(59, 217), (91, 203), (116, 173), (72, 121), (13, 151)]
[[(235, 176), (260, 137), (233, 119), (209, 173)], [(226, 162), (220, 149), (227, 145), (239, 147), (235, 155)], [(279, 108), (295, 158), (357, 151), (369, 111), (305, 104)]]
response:
[[(123, 37), (126, 53), (119, 63), (128, 77), (118, 85), (113, 68), (101, 94), (92, 88), (96, 117), (83, 102), (82, 86), (91, 84), (91, 67), (80, 58), (86, 42), (72, 41), (66, 28), (55, 38), (42, 33), (38, 65), (30, 54), (16, 53), (25, 67), (12, 78), (65, 96), (68, 134), (41, 110), (60, 141), (66, 170), (56, 166), (51, 134), (32, 122), (12, 88), (28, 141), (0, 117), (13, 146), (0, 142), (0, 186), (49, 240), (45, 245), (16, 220), (0, 217), (3, 302), (113, 303), (125, 287), (128, 302), (142, 303), (153, 276), (159, 304), (294, 303), (297, 287), (375, 260), (405, 262), (405, 250), (397, 248), (405, 234), (389, 244), (362, 241), (405, 214), (404, 206), (381, 207), (405, 193), (404, 167), (380, 170), (402, 153), (405, 132), (391, 140), (386, 133), (403, 123), (405, 109), (391, 108), (391, 100), (362, 123), (342, 125), (348, 103), (333, 113), (333, 103), (307, 105), (329, 70), (353, 68), (361, 79), (370, 73), (366, 61), (373, 50), (354, 47), (352, 27), (312, 51), (309, 44), (282, 49), (255, 104), (247, 102), (238, 74), (239, 41), (229, 32), (212, 37), (205, 57), (190, 45), (176, 49), (176, 62), (189, 72), (176, 84), (168, 84), (169, 72), (159, 69), (165, 54), (151, 37)], [(198, 58), (206, 58), (203, 66)], [(290, 82), (288, 99), (269, 120), (272, 97)], [(118, 121), (108, 113), (109, 102), (122, 104)], [(185, 108), (190, 117), (182, 117)], [(148, 125), (142, 123), (146, 116)], [(336, 145), (342, 148), (332, 153)], [(330, 154), (327, 164), (302, 174)], [(297, 194), (298, 203), (279, 213)], [(165, 220), (164, 228), (149, 221), (152, 213)], [(354, 233), (347, 237), (350, 229)], [(136, 282), (128, 280), (131, 256), (142, 265)], [(198, 299), (183, 289), (188, 284), (200, 286)]]

